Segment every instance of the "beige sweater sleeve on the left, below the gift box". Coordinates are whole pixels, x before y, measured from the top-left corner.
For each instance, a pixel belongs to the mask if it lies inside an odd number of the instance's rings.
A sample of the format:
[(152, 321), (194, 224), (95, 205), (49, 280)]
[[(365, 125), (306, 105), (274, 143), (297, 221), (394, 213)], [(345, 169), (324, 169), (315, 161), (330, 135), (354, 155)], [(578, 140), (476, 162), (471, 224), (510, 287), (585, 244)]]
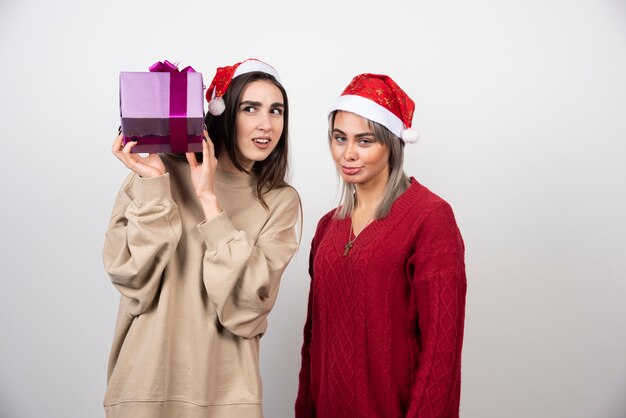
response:
[(102, 258), (115, 287), (130, 299), (132, 315), (140, 315), (154, 301), (181, 232), (169, 174), (130, 175), (113, 207)]

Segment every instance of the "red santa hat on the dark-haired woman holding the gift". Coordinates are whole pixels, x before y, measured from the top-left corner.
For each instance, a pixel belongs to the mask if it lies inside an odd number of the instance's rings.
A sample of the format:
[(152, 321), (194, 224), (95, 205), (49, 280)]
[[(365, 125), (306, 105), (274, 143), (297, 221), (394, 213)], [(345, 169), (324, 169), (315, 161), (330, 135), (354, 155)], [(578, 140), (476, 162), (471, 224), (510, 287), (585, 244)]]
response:
[(209, 102), (209, 113), (214, 116), (224, 113), (224, 99), (223, 96), (228, 90), (230, 82), (233, 78), (245, 73), (251, 73), (254, 71), (260, 71), (274, 76), (274, 78), (280, 82), (278, 77), (278, 71), (269, 64), (259, 61), (256, 58), (248, 58), (245, 61), (238, 62), (230, 67), (220, 67), (215, 72), (215, 77), (211, 81), (211, 85), (206, 91), (206, 100)]

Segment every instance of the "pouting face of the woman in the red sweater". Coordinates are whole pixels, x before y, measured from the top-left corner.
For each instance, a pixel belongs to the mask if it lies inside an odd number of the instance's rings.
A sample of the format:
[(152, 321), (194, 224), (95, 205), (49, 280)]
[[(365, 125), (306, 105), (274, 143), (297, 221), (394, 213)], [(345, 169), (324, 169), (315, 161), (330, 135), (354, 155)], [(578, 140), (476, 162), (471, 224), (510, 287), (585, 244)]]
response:
[(389, 149), (376, 139), (367, 119), (351, 112), (337, 112), (330, 150), (346, 183), (386, 184)]

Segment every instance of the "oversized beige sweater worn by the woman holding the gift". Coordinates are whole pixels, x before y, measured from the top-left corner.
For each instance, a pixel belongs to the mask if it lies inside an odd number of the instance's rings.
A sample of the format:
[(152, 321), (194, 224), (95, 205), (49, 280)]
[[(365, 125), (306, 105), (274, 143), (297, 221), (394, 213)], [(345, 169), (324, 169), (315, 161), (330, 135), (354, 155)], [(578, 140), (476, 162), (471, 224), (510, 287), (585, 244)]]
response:
[(293, 256), (299, 198), (255, 197), (253, 176), (218, 171), (210, 222), (185, 161), (122, 185), (103, 259), (121, 293), (107, 417), (262, 417), (259, 338)]

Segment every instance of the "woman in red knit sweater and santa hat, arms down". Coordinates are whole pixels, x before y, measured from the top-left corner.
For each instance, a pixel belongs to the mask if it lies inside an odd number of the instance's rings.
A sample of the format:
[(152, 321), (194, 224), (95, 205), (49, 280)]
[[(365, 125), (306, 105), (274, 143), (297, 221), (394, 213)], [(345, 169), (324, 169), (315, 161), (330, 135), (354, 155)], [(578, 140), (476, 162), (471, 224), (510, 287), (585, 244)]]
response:
[(296, 417), (459, 415), (464, 245), (448, 203), (403, 171), (414, 108), (361, 74), (330, 113), (344, 190), (311, 247)]

